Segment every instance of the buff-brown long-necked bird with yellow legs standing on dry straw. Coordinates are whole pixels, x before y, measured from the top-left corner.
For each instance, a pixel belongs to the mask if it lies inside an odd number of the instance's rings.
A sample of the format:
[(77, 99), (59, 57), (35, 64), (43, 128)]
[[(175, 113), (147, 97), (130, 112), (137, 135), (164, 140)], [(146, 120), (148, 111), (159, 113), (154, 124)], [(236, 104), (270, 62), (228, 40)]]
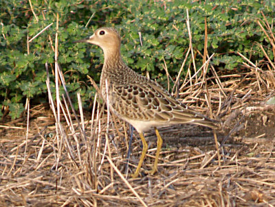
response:
[(93, 35), (74, 42), (98, 45), (104, 53), (104, 64), (100, 75), (102, 97), (120, 119), (133, 125), (142, 140), (142, 154), (133, 178), (140, 175), (148, 144), (143, 133), (155, 128), (157, 151), (151, 171), (157, 172), (157, 160), (162, 147), (162, 136), (157, 127), (193, 123), (217, 128), (217, 121), (210, 119), (175, 99), (167, 90), (151, 79), (129, 68), (120, 53), (121, 37), (113, 27), (100, 27)]

